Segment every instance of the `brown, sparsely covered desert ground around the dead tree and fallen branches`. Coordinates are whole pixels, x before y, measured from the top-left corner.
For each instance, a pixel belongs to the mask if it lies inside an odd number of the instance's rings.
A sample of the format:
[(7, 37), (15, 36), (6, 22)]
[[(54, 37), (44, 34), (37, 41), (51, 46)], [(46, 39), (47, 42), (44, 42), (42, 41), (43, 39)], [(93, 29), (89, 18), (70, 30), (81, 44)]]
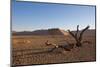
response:
[[(87, 28), (88, 27), (85, 29), (87, 30)], [(76, 36), (76, 34), (74, 36)], [(82, 40), (82, 42), (88, 41), (91, 43), (85, 43), (82, 45), (81, 49), (78, 49), (71, 47), (71, 44), (76, 44), (77, 42), (75, 38), (70, 35), (13, 35), (12, 63), (13, 65), (28, 65), (95, 61), (95, 34), (91, 34), (91, 36), (86, 34), (85, 36), (81, 33), (80, 36), (82, 36), (80, 42)], [(57, 44), (60, 48), (55, 49), (52, 45), (47, 46), (45, 44), (47, 40), (49, 41), (49, 44)], [(72, 50), (66, 50), (66, 44), (69, 45), (67, 48)]]

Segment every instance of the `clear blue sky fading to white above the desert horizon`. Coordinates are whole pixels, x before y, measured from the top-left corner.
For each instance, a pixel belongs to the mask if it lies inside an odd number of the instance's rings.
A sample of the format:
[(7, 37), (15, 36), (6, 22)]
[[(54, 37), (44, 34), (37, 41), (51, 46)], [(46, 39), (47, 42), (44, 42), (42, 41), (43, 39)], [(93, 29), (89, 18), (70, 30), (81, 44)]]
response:
[(12, 30), (33, 31), (48, 28), (76, 30), (90, 25), (95, 29), (95, 7), (48, 4), (36, 2), (12, 2)]

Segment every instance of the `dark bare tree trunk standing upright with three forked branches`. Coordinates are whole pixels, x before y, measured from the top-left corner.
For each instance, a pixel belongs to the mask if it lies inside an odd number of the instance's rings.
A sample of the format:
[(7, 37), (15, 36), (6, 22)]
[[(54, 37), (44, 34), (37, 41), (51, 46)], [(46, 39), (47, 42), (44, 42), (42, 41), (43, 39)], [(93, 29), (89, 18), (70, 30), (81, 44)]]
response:
[(77, 47), (81, 47), (82, 46), (82, 38), (83, 38), (83, 34), (84, 32), (89, 28), (90, 26), (87, 26), (86, 28), (84, 28), (82, 31), (80, 31), (79, 33), (79, 25), (77, 25), (77, 31), (76, 33), (72, 33), (70, 30), (68, 30), (69, 34), (75, 39), (76, 41), (76, 46)]

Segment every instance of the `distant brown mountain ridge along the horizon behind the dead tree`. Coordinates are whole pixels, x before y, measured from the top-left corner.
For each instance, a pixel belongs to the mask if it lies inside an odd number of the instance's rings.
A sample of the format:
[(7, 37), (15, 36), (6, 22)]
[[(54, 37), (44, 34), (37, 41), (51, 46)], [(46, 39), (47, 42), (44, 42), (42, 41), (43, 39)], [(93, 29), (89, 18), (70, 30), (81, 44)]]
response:
[[(75, 33), (76, 31), (72, 31)], [(94, 34), (94, 29), (89, 29), (85, 32), (85, 34)], [(69, 35), (67, 31), (61, 30), (59, 28), (52, 28), (52, 29), (46, 29), (46, 30), (35, 30), (35, 31), (22, 31), (22, 32), (16, 32), (12, 31), (13, 35)]]

